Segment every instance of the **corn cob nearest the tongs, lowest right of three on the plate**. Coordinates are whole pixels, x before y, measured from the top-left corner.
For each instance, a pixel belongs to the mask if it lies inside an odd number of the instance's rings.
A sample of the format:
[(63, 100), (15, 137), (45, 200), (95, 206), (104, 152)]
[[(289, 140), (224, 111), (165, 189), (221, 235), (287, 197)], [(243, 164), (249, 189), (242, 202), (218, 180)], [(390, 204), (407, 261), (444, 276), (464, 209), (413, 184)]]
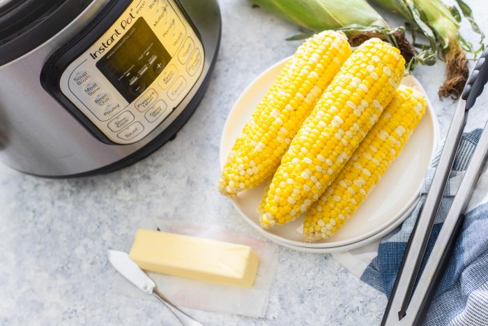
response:
[(342, 228), (402, 151), (424, 112), (420, 91), (400, 86), (333, 184), (305, 214), (308, 240), (326, 239)]

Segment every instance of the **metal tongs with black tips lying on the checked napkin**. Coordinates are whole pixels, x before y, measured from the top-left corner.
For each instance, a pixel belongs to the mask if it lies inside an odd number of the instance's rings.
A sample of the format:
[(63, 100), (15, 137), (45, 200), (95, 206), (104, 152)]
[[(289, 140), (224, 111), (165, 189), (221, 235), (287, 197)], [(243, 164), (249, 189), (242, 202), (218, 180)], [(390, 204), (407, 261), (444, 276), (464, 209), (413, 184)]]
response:
[[(415, 226), (406, 245), (402, 265), (400, 265), (381, 325), (422, 325), (425, 319), (437, 285), (443, 276), (445, 265), (451, 256), (459, 229), (464, 221), (464, 210), (487, 161), (488, 121), (452, 202), (448, 216), (445, 218), (439, 237), (436, 239), (432, 253), (429, 255), (420, 279), (418, 279), (422, 258), (425, 255), (432, 225), (434, 225), (434, 219), (459, 147), (462, 132), (466, 126), (469, 109), (473, 108), (476, 98), (482, 94), (487, 82), (488, 50), (485, 50), (469, 76), (455, 110), (439, 158), (439, 165), (437, 165), (432, 185), (429, 193), (427, 193), (425, 205), (417, 221), (415, 221)], [(418, 283), (415, 286), (417, 279)]]

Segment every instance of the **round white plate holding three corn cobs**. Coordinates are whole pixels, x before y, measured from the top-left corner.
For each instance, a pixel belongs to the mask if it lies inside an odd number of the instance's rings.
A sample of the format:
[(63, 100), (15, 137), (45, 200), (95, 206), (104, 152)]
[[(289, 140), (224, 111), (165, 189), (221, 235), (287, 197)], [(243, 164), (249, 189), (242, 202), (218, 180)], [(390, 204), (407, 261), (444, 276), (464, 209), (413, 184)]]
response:
[[(240, 135), (246, 121), (250, 118), (257, 103), (266, 93), (287, 59), (284, 59), (259, 75), (238, 98), (232, 108), (222, 133), (220, 142), (220, 166), (229, 155), (232, 145)], [(289, 244), (314, 249), (327, 249), (355, 244), (364, 239), (381, 237), (380, 232), (388, 226), (399, 223), (399, 218), (406, 218), (406, 211), (418, 199), (425, 170), (436, 150), (439, 139), (439, 127), (436, 115), (432, 110), (424, 89), (415, 79), (409, 76), (402, 84), (418, 87), (427, 98), (427, 112), (413, 132), (409, 143), (402, 154), (390, 166), (386, 175), (374, 188), (367, 200), (351, 219), (330, 239), (322, 242), (305, 242), (300, 225), (302, 218), (286, 225), (275, 226), (264, 230), (259, 226), (257, 205), (264, 190), (264, 185), (239, 193), (231, 198), (237, 211), (258, 232), (278, 244)], [(402, 220), (403, 221), (403, 220)], [(373, 241), (373, 239), (369, 239)], [(346, 249), (347, 250), (347, 249)]]

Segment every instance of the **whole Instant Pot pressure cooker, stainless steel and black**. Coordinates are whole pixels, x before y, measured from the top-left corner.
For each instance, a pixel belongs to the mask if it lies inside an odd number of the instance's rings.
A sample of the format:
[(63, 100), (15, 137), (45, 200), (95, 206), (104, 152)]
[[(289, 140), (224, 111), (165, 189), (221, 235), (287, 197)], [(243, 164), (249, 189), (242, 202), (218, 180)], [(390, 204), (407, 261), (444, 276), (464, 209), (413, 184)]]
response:
[(110, 172), (171, 139), (208, 85), (216, 0), (0, 0), (0, 159)]

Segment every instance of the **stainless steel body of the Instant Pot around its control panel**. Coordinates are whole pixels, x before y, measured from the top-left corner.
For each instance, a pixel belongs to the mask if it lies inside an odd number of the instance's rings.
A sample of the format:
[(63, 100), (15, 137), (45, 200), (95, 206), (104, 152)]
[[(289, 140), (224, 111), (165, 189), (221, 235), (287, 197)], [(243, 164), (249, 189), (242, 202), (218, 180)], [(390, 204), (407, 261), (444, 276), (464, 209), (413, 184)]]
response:
[(171, 114), (141, 140), (128, 145), (102, 142), (43, 88), (40, 75), (49, 57), (91, 24), (93, 17), (109, 2), (94, 0), (47, 42), (0, 66), (2, 163), (45, 177), (109, 172), (158, 148), (195, 110), (208, 83), (220, 42), (220, 11), (215, 0), (178, 1), (204, 47), (203, 68), (195, 85)]

